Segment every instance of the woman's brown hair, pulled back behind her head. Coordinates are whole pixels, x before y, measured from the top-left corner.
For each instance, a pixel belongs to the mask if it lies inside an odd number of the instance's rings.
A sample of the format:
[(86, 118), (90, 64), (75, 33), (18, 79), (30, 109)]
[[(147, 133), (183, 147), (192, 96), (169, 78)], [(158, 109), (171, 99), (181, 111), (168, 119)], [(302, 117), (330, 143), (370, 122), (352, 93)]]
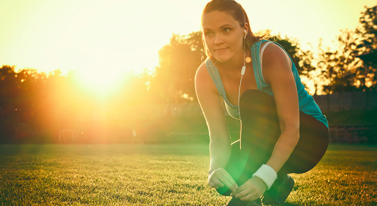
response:
[[(246, 48), (250, 48), (255, 42), (260, 39), (266, 39), (269, 36), (270, 31), (264, 31), (254, 35), (250, 28), (249, 18), (243, 7), (238, 4), (234, 0), (212, 0), (209, 2), (203, 10), (202, 13), (202, 21), (203, 15), (213, 12), (225, 12), (228, 15), (232, 16), (238, 23), (240, 24), (241, 28), (244, 27), (245, 23), (247, 23), (248, 32), (245, 39), (245, 46)], [(210, 51), (208, 50), (204, 38), (202, 38), (204, 50), (206, 52), (207, 57), (211, 57)]]

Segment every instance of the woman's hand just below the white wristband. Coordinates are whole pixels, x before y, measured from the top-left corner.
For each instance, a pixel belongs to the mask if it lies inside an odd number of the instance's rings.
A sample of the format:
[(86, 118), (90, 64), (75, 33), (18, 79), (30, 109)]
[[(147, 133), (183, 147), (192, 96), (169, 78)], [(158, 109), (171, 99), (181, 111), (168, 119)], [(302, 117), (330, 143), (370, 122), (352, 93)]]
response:
[(259, 177), (252, 177), (230, 195), (243, 201), (253, 201), (262, 196), (266, 189), (266, 184)]

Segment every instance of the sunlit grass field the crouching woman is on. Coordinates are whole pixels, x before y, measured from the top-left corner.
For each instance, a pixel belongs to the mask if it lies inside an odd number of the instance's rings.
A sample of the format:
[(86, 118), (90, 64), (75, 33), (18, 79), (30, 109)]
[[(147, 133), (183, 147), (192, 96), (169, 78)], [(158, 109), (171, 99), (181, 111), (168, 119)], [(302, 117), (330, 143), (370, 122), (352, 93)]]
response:
[[(0, 205), (225, 205), (208, 145), (0, 145)], [(377, 146), (330, 145), (282, 205), (377, 205)]]

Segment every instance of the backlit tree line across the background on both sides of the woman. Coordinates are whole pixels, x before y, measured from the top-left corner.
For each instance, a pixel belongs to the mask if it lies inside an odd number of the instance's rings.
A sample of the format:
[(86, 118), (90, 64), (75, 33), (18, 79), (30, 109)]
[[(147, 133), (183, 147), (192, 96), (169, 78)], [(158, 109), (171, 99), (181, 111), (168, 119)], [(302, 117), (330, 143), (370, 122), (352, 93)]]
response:
[[(312, 82), (315, 89), (312, 94), (327, 94), (376, 90), (375, 61), (359, 58), (377, 50), (376, 34), (377, 6), (374, 6), (365, 7), (355, 30), (341, 31), (336, 51), (324, 49), (320, 43), (315, 55), (302, 50), (296, 39), (278, 35), (270, 40), (282, 45), (300, 75)], [(16, 71), (14, 66), (3, 65), (0, 68), (0, 142), (24, 142), (30, 137), (48, 142), (48, 138), (56, 137), (57, 131), (63, 128), (76, 128), (81, 131), (79, 134), (90, 138), (99, 135), (96, 133), (100, 131), (96, 130), (99, 125), (107, 125), (108, 131), (118, 131), (119, 134), (112, 133), (113, 136), (124, 135), (119, 128), (126, 128), (127, 134), (132, 136), (142, 118), (135, 113), (130, 115), (130, 108), (197, 101), (194, 77), (206, 59), (203, 51), (200, 31), (173, 34), (170, 43), (159, 50), (159, 65), (153, 73), (145, 69), (129, 75), (118, 93), (109, 96), (106, 102), (98, 102), (77, 87), (74, 72), (62, 75), (55, 70), (46, 74), (29, 68)], [(107, 122), (100, 124), (101, 120), (92, 117), (92, 113), (104, 108), (106, 115), (99, 119)], [(122, 122), (125, 119), (128, 121)]]

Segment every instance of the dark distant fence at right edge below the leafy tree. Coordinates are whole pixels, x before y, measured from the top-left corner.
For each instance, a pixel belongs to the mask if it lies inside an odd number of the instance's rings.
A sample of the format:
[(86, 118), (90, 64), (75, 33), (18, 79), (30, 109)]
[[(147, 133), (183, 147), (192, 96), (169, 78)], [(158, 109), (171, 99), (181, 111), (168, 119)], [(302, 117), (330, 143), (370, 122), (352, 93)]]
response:
[(377, 109), (377, 91), (350, 91), (314, 96), (322, 112)]

